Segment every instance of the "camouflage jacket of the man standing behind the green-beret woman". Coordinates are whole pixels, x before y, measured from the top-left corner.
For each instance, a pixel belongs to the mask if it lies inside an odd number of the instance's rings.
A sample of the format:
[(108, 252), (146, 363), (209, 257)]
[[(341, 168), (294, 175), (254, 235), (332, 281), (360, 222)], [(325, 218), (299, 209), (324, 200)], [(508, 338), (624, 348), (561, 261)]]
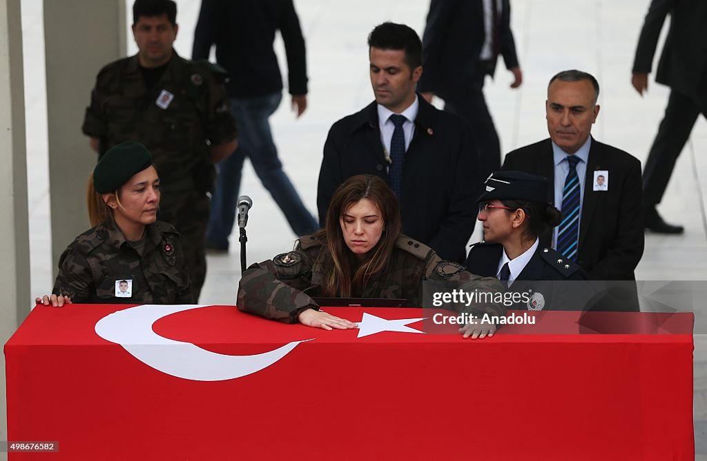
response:
[(206, 191), (200, 183), (214, 174), (209, 143), (236, 136), (225, 71), (218, 69), (173, 52), (158, 82), (147, 88), (137, 56), (108, 64), (91, 92), (83, 133), (100, 140), (99, 155), (127, 140), (146, 145), (167, 192), (195, 185)]

